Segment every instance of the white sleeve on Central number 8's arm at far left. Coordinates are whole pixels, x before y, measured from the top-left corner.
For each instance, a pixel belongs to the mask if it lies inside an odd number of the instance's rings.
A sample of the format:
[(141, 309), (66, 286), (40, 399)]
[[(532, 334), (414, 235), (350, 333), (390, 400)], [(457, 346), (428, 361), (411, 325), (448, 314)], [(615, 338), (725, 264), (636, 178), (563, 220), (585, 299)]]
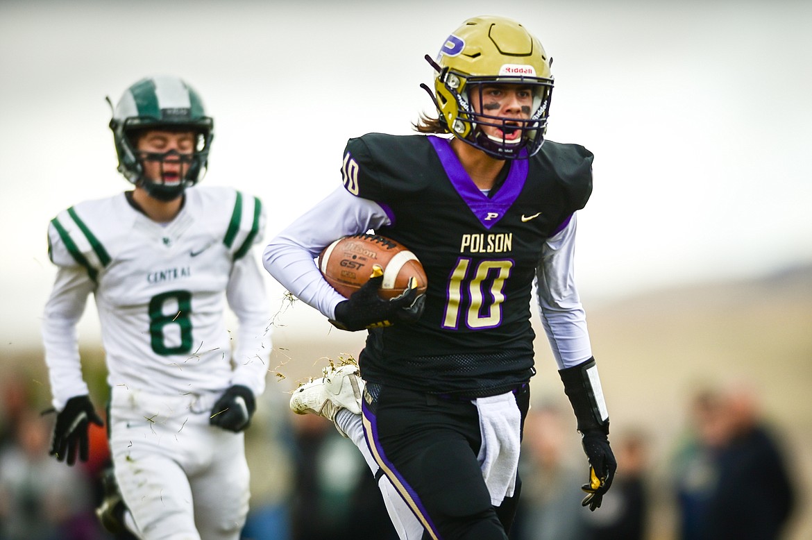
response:
[(48, 366), (52, 404), (61, 411), (67, 400), (89, 393), (82, 378), (76, 324), (95, 283), (80, 266), (59, 266), (42, 317), (42, 344)]

